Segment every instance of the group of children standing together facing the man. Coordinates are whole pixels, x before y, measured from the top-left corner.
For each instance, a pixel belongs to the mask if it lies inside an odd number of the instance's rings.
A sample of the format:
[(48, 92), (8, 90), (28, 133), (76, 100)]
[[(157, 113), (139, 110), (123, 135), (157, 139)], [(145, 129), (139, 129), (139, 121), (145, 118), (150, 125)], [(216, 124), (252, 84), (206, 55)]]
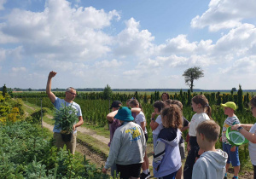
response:
[[(182, 159), (185, 159), (182, 131), (189, 128), (189, 153), (183, 168), (183, 178), (227, 178), (226, 170), (229, 169), (230, 163), (234, 167), (233, 178), (238, 178), (238, 147), (231, 147), (225, 137), (228, 127), (240, 124), (235, 115), (236, 104), (222, 104), (224, 114), (228, 118), (224, 121), (220, 138), (223, 150), (220, 150), (215, 148), (220, 127), (211, 118), (212, 109), (205, 95), (192, 98), (191, 107), (195, 114), (190, 122), (183, 117), (182, 103), (169, 100), (166, 93), (163, 95), (166, 95), (162, 98), (163, 101), (154, 102), (154, 113), (149, 124), (154, 143), (154, 177), (181, 178)], [(127, 101), (126, 106), (122, 107), (120, 101), (113, 101), (112, 112), (108, 113), (111, 144), (109, 143), (110, 151), (102, 172), (106, 173), (111, 168), (112, 176), (115, 175), (114, 170), (117, 170), (123, 179), (148, 178), (151, 174), (146, 150), (146, 118), (136, 99)]]

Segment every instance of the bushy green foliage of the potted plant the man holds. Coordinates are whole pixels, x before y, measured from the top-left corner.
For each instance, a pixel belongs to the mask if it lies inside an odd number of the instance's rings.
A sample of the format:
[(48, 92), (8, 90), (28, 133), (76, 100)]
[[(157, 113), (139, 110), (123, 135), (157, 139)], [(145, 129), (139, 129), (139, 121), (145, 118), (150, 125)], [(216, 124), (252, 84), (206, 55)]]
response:
[(73, 131), (73, 124), (76, 124), (79, 121), (77, 116), (77, 110), (73, 108), (73, 105), (66, 106), (66, 104), (62, 104), (62, 107), (55, 111), (55, 126), (59, 130), (65, 130), (67, 132)]

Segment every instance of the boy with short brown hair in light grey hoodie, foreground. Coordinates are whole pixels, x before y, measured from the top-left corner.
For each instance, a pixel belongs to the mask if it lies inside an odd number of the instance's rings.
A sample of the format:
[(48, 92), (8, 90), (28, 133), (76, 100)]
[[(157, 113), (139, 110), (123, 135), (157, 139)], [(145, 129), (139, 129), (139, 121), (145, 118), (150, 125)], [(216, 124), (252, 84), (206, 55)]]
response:
[(202, 122), (197, 127), (196, 141), (205, 152), (196, 160), (192, 179), (224, 178), (228, 154), (215, 149), (220, 127), (213, 120)]

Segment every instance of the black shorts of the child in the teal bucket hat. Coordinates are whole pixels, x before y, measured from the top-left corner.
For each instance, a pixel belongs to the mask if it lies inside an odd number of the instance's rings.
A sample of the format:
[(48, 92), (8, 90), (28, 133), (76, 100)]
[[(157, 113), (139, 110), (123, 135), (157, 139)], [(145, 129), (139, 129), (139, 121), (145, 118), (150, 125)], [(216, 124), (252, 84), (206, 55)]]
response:
[(120, 178), (129, 179), (130, 177), (138, 178), (141, 174), (142, 163), (132, 165), (116, 165)]

